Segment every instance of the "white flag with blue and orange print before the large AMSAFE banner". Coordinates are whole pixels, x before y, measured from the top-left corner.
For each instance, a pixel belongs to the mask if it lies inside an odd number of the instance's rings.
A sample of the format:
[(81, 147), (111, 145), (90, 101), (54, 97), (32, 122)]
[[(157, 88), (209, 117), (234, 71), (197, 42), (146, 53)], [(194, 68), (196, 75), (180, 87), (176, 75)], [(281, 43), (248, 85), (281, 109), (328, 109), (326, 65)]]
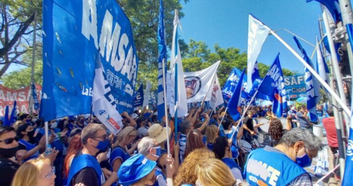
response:
[[(92, 111), (95, 116), (107, 127), (114, 135), (123, 128), (123, 118), (120, 116), (108, 81), (105, 79), (101, 56), (97, 56), (95, 77), (93, 80)], [(105, 88), (106, 87), (106, 88)]]

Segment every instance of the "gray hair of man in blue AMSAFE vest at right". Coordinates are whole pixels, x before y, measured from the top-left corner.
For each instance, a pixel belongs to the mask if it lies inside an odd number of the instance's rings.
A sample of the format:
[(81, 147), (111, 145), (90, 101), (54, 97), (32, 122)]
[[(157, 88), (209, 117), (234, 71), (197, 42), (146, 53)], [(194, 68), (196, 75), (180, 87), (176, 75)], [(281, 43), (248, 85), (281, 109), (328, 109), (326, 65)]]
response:
[(294, 128), (283, 135), (279, 143), (293, 146), (296, 142), (303, 141), (308, 150), (320, 150), (321, 140), (307, 129)]

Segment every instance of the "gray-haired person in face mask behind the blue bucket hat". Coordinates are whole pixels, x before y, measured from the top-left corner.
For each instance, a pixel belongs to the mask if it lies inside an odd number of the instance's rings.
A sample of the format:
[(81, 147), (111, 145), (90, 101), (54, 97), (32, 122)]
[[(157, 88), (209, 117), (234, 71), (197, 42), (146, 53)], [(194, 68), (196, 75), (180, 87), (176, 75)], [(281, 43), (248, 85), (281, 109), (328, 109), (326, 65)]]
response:
[[(156, 162), (161, 155), (161, 146), (159, 146), (158, 142), (151, 137), (142, 138), (139, 144), (137, 145), (137, 149), (139, 154), (144, 155), (147, 159), (154, 162)], [(177, 153), (178, 151), (175, 150), (175, 157), (177, 157)], [(174, 161), (173, 158), (170, 159), (172, 162)], [(167, 183), (173, 183), (173, 173), (171, 173), (170, 171), (166, 172), (166, 178), (163, 175), (162, 170), (157, 166), (155, 167), (155, 177), (156, 182), (153, 184), (153, 186), (167, 186)]]

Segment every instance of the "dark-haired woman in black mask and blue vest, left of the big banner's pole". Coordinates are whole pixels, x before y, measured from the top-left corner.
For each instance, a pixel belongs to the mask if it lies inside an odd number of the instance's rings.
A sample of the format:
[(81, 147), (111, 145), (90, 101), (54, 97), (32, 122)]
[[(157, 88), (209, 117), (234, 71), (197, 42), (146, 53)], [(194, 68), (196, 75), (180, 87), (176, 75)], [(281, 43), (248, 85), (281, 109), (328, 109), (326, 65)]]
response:
[(45, 137), (43, 136), (40, 140), (37, 140), (33, 137), (34, 132), (33, 126), (30, 124), (23, 124), (16, 131), (17, 136), (20, 138), (19, 148), (25, 150), (24, 162), (38, 158), (39, 152), (45, 151)]

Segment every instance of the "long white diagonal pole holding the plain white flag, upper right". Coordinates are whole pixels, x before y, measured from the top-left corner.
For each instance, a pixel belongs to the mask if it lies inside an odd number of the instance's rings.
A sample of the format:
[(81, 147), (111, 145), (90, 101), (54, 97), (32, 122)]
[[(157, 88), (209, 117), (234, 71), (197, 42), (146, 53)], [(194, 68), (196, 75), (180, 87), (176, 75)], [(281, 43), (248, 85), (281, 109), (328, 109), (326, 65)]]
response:
[(321, 85), (323, 85), (325, 87), (325, 89), (328, 90), (328, 92), (332, 95), (332, 97), (342, 107), (344, 112), (346, 114), (350, 115), (350, 113), (351, 113), (350, 109), (347, 107), (347, 105), (345, 105), (342, 102), (340, 97), (328, 86), (328, 84), (320, 77), (320, 75), (318, 73), (316, 73), (316, 71), (313, 68), (311, 68), (311, 66), (309, 64), (307, 64), (304, 61), (304, 59), (291, 46), (289, 46), (285, 41), (283, 41), (283, 39), (280, 38), (274, 31), (270, 30), (270, 33), (273, 36), (275, 36), (278, 39), (278, 41), (281, 42), (290, 52), (292, 52), (293, 55), (299, 59), (300, 62), (303, 63), (303, 65), (311, 72), (312, 75), (314, 75), (314, 77), (321, 83)]

